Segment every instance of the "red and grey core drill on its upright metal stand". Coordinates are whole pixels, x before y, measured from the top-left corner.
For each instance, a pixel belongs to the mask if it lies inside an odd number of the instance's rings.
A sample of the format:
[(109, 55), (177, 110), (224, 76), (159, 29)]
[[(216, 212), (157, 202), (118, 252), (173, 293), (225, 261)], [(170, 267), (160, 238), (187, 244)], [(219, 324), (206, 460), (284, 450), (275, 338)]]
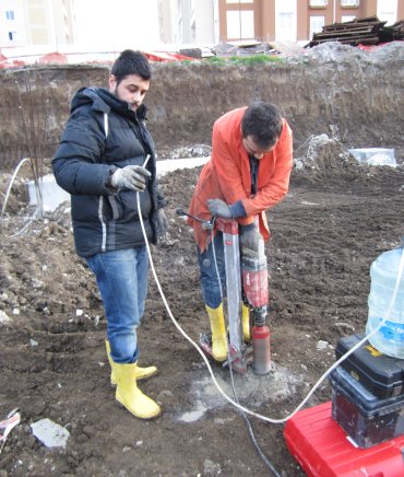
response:
[[(245, 374), (247, 365), (252, 361), (256, 374), (264, 375), (271, 371), (270, 328), (266, 325), (269, 289), (268, 266), (264, 253), (264, 242), (260, 236), (258, 252), (240, 254), (238, 222), (216, 218), (204, 221), (177, 209), (178, 216), (187, 216), (199, 222), (206, 230), (216, 228), (223, 233), (229, 360), (224, 365)], [(250, 311), (251, 347), (245, 344), (241, 323), (242, 303)], [(212, 356), (210, 334), (201, 334), (201, 348)]]

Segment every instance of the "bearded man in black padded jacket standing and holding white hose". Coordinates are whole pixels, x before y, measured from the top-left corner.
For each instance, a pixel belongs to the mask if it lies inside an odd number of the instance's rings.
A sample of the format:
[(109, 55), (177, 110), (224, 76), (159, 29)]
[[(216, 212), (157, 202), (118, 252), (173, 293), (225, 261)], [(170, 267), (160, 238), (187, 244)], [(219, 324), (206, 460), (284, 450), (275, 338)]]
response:
[(76, 252), (95, 274), (103, 298), (116, 399), (141, 419), (158, 416), (161, 408), (136, 385), (157, 372), (155, 367), (136, 364), (136, 327), (144, 312), (148, 274), (140, 214), (152, 243), (167, 228), (142, 104), (151, 75), (144, 55), (122, 51), (112, 66), (109, 90), (83, 88), (74, 95), (52, 160), (57, 183), (71, 194)]

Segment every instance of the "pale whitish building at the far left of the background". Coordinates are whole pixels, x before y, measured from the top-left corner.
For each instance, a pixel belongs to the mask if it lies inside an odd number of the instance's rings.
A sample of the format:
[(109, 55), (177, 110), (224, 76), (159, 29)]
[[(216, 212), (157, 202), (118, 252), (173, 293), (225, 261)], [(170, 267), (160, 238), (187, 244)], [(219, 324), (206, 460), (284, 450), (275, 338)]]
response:
[(3, 0), (0, 47), (73, 44), (74, 0)]

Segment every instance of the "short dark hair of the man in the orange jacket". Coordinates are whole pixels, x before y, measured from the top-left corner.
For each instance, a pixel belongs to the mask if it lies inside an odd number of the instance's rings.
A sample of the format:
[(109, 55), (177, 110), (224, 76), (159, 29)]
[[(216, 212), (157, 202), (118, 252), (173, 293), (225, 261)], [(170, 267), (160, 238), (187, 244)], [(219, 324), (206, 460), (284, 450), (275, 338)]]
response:
[(241, 119), (242, 137), (252, 136), (254, 142), (263, 149), (276, 143), (282, 126), (282, 114), (277, 106), (263, 101), (248, 106)]

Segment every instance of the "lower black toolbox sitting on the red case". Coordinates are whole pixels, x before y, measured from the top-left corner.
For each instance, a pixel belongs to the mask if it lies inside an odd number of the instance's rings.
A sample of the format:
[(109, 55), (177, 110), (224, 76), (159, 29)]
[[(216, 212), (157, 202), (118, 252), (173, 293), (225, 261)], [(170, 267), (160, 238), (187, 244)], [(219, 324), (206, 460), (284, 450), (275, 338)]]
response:
[(332, 418), (363, 449), (404, 434), (404, 394), (379, 399), (337, 367), (329, 376)]

